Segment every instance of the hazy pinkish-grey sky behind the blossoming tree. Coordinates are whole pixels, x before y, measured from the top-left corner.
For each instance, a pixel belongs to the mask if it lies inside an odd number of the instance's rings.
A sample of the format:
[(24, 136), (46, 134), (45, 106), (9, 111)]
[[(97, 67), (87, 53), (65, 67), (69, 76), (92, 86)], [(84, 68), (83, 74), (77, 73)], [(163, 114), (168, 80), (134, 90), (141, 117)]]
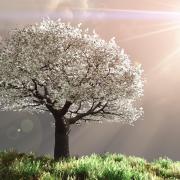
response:
[[(12, 28), (43, 18), (83, 23), (105, 40), (115, 37), (146, 79), (144, 117), (134, 126), (82, 124), (70, 133), (76, 155), (118, 152), (152, 160), (180, 160), (179, 0), (0, 0), (0, 40)], [(53, 119), (48, 114), (0, 112), (0, 149), (53, 153)]]

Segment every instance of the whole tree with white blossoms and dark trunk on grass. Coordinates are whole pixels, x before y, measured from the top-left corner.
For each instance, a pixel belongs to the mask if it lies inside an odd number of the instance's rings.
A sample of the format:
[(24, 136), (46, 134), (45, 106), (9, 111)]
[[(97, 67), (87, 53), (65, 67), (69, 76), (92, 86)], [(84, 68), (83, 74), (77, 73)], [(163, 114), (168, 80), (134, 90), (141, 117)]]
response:
[(112, 38), (60, 20), (13, 30), (0, 48), (0, 108), (50, 112), (54, 158), (69, 156), (70, 125), (82, 121), (132, 124), (143, 113), (140, 65)]

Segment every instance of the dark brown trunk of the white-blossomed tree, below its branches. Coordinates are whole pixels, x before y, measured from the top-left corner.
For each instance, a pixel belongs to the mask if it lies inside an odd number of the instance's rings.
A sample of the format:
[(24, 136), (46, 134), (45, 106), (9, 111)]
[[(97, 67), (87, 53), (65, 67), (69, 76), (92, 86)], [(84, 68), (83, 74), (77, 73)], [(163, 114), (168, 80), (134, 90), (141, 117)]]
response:
[(69, 124), (63, 118), (55, 118), (54, 159), (69, 157)]

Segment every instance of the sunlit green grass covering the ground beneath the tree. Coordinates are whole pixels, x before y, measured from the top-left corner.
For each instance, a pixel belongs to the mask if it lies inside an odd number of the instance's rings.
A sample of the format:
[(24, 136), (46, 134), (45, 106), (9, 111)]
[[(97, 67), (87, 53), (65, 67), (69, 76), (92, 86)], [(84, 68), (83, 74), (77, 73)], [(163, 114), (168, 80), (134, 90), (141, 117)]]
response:
[(0, 152), (2, 180), (154, 180), (180, 179), (180, 162), (159, 158), (147, 162), (121, 154), (84, 156), (55, 162), (33, 153)]

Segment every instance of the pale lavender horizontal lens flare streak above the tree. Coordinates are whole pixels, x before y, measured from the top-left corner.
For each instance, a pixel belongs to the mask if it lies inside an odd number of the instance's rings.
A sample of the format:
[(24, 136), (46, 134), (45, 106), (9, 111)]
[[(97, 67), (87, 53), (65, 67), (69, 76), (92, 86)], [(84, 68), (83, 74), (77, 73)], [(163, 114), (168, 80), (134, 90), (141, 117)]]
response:
[[(142, 10), (119, 10), (119, 9), (90, 9), (84, 11), (81, 9), (70, 8), (74, 15), (74, 19), (78, 20), (180, 20), (180, 12), (171, 11), (142, 11)], [(86, 13), (86, 15), (84, 14)], [(51, 18), (65, 17), (65, 10), (59, 11), (26, 11), (26, 12), (0, 12), (0, 19), (31, 19), (50, 16)], [(67, 17), (68, 19), (68, 17)]]

